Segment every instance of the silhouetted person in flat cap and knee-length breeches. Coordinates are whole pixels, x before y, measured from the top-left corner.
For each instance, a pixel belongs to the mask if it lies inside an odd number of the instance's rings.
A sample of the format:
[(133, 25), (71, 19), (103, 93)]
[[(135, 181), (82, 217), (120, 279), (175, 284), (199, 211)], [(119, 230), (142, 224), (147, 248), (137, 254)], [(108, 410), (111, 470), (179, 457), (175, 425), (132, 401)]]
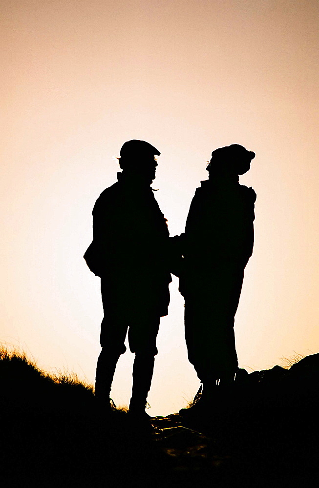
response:
[(104, 190), (93, 208), (93, 242), (85, 253), (91, 271), (101, 277), (104, 318), (102, 350), (96, 369), (95, 396), (110, 411), (110, 390), (117, 361), (135, 353), (129, 413), (145, 412), (151, 384), (160, 318), (168, 313), (171, 276), (166, 249), (167, 221), (150, 184), (160, 152), (146, 141), (125, 142), (120, 151), (122, 172)]

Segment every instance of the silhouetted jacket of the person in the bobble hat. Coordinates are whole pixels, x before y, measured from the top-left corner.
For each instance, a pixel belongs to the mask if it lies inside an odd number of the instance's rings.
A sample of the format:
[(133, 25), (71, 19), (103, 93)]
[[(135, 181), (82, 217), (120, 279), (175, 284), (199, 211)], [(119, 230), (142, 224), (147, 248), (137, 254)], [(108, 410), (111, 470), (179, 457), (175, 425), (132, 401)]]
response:
[(254, 246), (253, 188), (234, 181), (201, 182), (181, 236), (180, 291), (209, 287), (214, 273), (243, 271)]

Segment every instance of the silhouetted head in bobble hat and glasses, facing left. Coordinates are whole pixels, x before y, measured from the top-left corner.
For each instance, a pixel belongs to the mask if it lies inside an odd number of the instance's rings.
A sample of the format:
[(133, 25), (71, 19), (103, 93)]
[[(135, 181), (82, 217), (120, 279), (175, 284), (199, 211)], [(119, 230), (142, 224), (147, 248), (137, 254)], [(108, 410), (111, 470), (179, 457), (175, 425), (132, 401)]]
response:
[(253, 151), (248, 151), (240, 144), (231, 144), (215, 149), (206, 169), (210, 175), (220, 173), (243, 175), (250, 169), (250, 163), (254, 158)]

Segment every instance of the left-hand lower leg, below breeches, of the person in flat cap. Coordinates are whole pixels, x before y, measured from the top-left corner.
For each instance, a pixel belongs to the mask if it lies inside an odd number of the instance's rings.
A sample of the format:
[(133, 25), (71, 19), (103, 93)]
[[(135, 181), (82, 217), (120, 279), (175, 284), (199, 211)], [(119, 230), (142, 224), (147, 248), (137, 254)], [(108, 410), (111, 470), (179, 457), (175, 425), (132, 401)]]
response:
[(109, 402), (112, 380), (120, 355), (119, 352), (111, 353), (102, 347), (96, 366), (95, 377), (95, 396), (101, 401)]

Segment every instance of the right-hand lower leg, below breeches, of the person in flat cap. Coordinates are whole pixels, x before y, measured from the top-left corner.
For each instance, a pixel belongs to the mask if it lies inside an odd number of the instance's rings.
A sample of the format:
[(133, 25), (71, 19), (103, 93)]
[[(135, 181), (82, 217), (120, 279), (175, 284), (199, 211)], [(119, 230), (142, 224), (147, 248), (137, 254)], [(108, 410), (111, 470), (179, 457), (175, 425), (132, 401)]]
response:
[(132, 397), (130, 411), (144, 411), (154, 370), (154, 356), (136, 353), (133, 364)]

